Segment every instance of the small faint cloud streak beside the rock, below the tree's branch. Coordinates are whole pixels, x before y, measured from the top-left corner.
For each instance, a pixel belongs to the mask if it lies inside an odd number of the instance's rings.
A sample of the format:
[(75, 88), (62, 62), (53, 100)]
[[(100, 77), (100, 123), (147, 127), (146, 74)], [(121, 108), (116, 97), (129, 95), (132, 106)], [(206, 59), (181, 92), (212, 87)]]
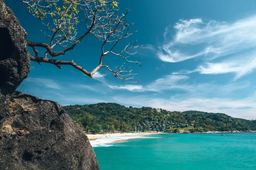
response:
[(61, 86), (58, 85), (54, 80), (52, 79), (44, 79), (44, 78), (27, 78), (25, 81), (33, 82), (37, 85), (44, 86), (45, 88), (53, 88), (53, 89), (61, 89)]

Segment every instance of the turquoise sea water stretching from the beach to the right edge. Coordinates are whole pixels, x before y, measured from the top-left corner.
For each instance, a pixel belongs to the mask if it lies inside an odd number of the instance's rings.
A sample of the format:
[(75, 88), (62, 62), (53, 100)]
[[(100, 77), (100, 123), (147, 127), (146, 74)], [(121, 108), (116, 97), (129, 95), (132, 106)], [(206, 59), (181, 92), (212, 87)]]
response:
[(101, 170), (256, 170), (256, 133), (157, 134), (93, 147)]

